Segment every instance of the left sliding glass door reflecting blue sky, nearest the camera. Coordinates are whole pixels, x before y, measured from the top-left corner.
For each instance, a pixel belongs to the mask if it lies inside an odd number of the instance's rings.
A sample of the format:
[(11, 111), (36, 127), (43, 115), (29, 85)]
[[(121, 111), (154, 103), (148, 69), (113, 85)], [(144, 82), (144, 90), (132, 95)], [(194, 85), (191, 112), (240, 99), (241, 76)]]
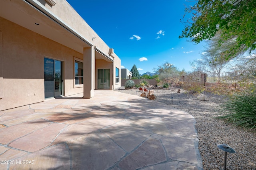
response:
[(44, 58), (44, 98), (62, 95), (62, 62)]

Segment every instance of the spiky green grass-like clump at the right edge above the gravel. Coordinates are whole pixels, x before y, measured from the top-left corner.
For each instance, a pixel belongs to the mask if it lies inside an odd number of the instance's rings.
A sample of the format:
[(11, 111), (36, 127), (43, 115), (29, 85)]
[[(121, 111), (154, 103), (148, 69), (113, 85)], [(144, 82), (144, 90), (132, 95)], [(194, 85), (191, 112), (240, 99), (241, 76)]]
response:
[(219, 119), (239, 127), (256, 128), (256, 85), (234, 93), (223, 106), (227, 114)]

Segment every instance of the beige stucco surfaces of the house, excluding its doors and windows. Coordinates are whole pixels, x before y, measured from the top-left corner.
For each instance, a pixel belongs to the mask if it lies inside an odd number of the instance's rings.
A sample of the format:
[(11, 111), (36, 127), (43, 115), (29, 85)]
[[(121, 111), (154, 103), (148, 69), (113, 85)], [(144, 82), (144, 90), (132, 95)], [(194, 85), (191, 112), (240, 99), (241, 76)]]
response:
[[(28, 1), (32, 4), (39, 4), (43, 10), (52, 12), (70, 29), (88, 41), (88, 44), (37, 10), (32, 9), (24, 1), (1, 1), (1, 6), (10, 9), (3, 7), (0, 11), (0, 111), (45, 100), (44, 58), (62, 61), (64, 96), (77, 93), (88, 95), (85, 94), (88, 92), (91, 93), (88, 96), (93, 97), (93, 90), (97, 89), (97, 71), (100, 68), (110, 69), (110, 90), (120, 87), (121, 83), (114, 81), (116, 67), (121, 69), (120, 58), (115, 53), (111, 55), (108, 53), (108, 45), (68, 2), (54, 0), (56, 5), (50, 6), (45, 0)], [(19, 10), (17, 11), (17, 9)], [(19, 16), (18, 12), (22, 15)], [(24, 21), (21, 22), (22, 16)], [(24, 16), (30, 21), (36, 18), (42, 23), (41, 27), (35, 27), (34, 23), (29, 25), (31, 23), (27, 22)], [(38, 30), (38, 33), (32, 31), (34, 28)], [(47, 30), (49, 32), (45, 32), (42, 28), (51, 29)], [(54, 30), (55, 28), (58, 30)], [(60, 35), (64, 35), (64, 37)], [(92, 37), (96, 38), (92, 40)], [(72, 41), (66, 41), (68, 38), (72, 38)], [(90, 48), (90, 56), (84, 53), (85, 48)], [(100, 51), (100, 57), (97, 58), (95, 58), (96, 49)], [(84, 71), (84, 85), (74, 85), (75, 58), (84, 61), (84, 66), (91, 66), (88, 73)], [(87, 61), (91, 63), (87, 63)]]

